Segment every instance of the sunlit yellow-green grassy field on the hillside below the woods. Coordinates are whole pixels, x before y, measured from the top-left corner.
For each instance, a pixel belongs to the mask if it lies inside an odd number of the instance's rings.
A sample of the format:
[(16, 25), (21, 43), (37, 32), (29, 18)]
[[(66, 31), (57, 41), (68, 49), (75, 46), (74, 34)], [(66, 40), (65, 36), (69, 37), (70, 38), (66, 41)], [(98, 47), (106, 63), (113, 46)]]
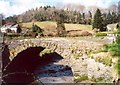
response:
[[(34, 22), (34, 24), (40, 26), (41, 28), (48, 29), (48, 28), (56, 28), (56, 22), (53, 21), (44, 21), (44, 22)], [(31, 28), (33, 25), (33, 22), (28, 22), (28, 23), (22, 23), (22, 27), (25, 28)], [(86, 31), (92, 31), (92, 26), (91, 25), (82, 25), (82, 24), (67, 24), (65, 23), (65, 28), (66, 31), (69, 30), (86, 30)]]

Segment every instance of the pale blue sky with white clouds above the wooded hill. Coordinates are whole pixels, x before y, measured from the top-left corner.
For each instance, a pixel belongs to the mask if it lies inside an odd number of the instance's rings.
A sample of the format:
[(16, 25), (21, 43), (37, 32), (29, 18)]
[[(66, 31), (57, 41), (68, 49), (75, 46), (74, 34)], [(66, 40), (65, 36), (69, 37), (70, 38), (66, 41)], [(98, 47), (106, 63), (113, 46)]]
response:
[(107, 8), (120, 0), (0, 0), (0, 14), (12, 16), (40, 6), (61, 6), (66, 4), (82, 4), (86, 7), (96, 5)]

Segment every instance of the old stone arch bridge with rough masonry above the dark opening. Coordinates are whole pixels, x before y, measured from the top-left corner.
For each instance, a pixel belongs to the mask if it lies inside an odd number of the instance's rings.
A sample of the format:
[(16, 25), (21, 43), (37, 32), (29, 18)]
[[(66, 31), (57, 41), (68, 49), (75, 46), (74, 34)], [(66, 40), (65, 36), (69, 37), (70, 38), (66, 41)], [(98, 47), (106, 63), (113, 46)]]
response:
[(24, 39), (9, 43), (11, 59), (19, 52), (28, 47), (45, 47), (61, 56), (67, 58), (74, 55), (82, 56), (85, 52), (90, 53), (101, 48), (101, 44), (82, 40), (71, 40), (65, 38), (43, 38), (43, 39)]

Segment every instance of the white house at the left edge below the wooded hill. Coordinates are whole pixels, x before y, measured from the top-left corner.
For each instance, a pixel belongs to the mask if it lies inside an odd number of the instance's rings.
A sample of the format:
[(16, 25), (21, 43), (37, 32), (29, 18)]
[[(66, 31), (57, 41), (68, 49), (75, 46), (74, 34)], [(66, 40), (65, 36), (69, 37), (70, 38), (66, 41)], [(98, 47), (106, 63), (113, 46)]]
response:
[(18, 26), (19, 26), (18, 24), (7, 23), (0, 28), (0, 31), (2, 33), (7, 33), (9, 30), (10, 32), (17, 33)]

